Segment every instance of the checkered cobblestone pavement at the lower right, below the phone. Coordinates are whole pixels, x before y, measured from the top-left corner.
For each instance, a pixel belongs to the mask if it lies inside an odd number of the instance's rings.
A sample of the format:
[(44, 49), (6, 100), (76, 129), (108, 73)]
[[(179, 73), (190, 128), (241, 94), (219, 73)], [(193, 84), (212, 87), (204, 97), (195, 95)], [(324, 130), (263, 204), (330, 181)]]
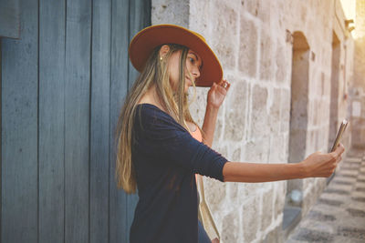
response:
[(365, 242), (365, 150), (351, 149), (287, 243)]

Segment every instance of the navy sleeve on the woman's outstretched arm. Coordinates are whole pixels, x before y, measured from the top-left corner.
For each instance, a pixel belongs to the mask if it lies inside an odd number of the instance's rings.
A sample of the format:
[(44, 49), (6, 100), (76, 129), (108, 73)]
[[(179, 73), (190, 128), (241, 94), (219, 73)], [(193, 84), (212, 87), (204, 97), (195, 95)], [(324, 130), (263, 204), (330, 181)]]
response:
[(141, 121), (136, 122), (139, 126), (137, 141), (151, 156), (160, 157), (162, 163), (173, 163), (193, 173), (224, 181), (222, 171), (227, 159), (194, 139), (172, 116), (149, 105), (149, 108), (142, 107), (136, 119)]

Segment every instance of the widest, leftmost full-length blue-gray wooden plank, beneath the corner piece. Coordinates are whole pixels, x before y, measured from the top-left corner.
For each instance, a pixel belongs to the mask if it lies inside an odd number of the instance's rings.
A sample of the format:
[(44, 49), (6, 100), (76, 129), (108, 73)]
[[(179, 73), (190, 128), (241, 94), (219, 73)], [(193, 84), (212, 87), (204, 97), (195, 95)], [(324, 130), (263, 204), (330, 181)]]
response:
[(21, 2), (22, 38), (2, 39), (1, 242), (37, 242), (37, 3)]

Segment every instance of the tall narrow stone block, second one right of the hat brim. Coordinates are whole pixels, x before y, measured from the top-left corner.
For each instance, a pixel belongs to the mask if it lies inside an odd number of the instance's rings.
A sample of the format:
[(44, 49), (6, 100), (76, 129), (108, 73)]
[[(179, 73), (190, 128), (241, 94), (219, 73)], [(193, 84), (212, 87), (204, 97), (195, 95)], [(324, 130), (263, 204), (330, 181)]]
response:
[(257, 69), (257, 38), (255, 23), (241, 14), (238, 67), (241, 72), (252, 77), (256, 76)]

